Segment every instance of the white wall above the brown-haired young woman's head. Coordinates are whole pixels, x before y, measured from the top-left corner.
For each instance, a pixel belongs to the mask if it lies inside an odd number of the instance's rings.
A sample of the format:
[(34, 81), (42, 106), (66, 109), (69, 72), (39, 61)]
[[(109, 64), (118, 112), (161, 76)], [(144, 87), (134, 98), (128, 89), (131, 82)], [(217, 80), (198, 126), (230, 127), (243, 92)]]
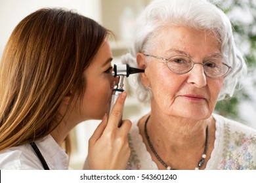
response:
[(43, 7), (77, 10), (101, 22), (100, 0), (0, 0), (0, 58), (14, 27), (25, 16)]

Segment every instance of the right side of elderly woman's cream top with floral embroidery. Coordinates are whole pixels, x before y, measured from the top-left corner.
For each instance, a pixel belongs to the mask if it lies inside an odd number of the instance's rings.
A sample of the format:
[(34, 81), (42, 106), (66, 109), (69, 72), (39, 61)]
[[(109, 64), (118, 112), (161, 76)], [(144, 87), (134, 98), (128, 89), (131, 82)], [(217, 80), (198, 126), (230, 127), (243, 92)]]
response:
[(214, 114), (220, 169), (256, 169), (256, 130)]

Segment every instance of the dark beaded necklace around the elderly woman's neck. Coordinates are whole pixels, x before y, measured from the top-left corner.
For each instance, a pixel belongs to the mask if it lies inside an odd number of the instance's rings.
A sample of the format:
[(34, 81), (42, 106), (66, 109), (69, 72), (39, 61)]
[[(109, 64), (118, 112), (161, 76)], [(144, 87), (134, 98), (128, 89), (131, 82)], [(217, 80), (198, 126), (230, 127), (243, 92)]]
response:
[[(148, 131), (146, 130), (146, 124), (148, 124), (148, 120), (149, 120), (150, 116), (148, 116), (148, 118), (146, 119), (146, 122), (144, 124), (144, 133), (146, 136), (146, 141), (148, 142), (148, 146), (150, 146), (150, 149), (152, 150), (154, 156), (156, 156), (156, 158), (158, 159), (158, 161), (160, 161), (160, 163), (167, 169), (167, 170), (171, 170), (171, 167), (168, 166), (163, 159), (160, 158), (160, 156), (158, 156), (158, 154), (156, 153), (156, 150), (154, 149), (152, 143), (150, 142), (150, 138), (148, 137)], [(205, 158), (206, 158), (206, 153), (207, 153), (207, 146), (208, 146), (208, 126), (206, 127), (206, 138), (205, 138), (205, 147), (203, 150), (203, 154), (202, 154), (202, 159), (200, 159), (200, 161), (198, 162), (198, 167), (195, 168), (195, 170), (199, 170), (202, 166), (203, 163), (205, 162)]]

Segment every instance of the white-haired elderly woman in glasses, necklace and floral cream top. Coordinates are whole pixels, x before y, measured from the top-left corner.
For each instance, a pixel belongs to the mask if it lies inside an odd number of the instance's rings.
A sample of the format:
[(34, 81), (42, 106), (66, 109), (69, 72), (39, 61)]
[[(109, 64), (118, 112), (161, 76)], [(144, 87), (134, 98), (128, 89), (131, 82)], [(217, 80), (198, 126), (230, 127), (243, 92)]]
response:
[(123, 60), (144, 69), (133, 86), (151, 106), (133, 122), (127, 169), (256, 169), (256, 131), (213, 114), (246, 73), (222, 10), (204, 0), (153, 1)]

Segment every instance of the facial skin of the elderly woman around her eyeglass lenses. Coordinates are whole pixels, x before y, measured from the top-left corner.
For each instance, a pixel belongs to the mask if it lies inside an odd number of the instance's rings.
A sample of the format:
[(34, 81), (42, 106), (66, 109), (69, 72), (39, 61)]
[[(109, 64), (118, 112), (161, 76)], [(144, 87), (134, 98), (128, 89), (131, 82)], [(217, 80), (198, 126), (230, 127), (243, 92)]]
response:
[[(221, 46), (215, 36), (187, 27), (169, 27), (159, 33), (160, 41), (151, 53), (170, 58), (184, 55), (195, 63), (204, 63), (210, 57), (221, 55)], [(146, 57), (141, 56), (142, 60)], [(152, 110), (195, 120), (208, 118), (215, 107), (223, 86), (223, 77), (209, 78), (203, 65), (183, 75), (170, 71), (161, 59), (150, 58), (146, 64), (142, 83), (152, 89)]]

